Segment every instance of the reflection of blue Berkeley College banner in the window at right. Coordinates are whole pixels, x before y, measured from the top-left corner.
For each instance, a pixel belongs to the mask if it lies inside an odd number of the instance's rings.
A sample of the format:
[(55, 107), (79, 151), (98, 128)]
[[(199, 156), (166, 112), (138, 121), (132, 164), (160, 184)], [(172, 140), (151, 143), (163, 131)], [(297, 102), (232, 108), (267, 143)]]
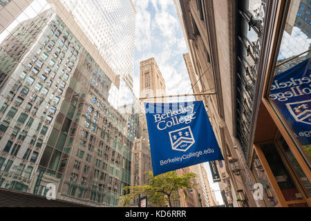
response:
[(274, 77), (270, 99), (288, 124), (292, 135), (310, 156), (311, 146), (311, 59)]

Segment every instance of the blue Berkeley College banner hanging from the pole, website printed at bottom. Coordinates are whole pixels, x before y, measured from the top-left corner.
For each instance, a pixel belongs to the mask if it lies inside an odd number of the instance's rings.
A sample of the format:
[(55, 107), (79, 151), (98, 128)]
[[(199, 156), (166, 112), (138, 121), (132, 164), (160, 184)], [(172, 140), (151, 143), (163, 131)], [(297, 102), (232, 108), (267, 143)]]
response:
[(203, 102), (144, 105), (153, 175), (223, 160)]

